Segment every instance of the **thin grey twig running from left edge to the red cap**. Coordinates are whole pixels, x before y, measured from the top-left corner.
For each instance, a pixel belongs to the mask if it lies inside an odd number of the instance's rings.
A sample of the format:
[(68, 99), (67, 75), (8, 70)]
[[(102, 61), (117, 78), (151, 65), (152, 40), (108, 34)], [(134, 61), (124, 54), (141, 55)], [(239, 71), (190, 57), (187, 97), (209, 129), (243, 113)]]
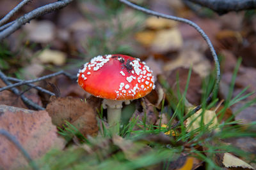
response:
[(6, 87), (2, 87), (0, 88), (0, 92), (2, 92), (3, 90), (7, 90), (7, 89), (11, 89), (13, 87), (17, 87), (17, 86), (20, 86), (20, 85), (27, 85), (28, 83), (35, 83), (37, 81), (42, 81), (42, 80), (45, 80), (47, 78), (51, 78), (51, 77), (54, 77), (54, 76), (58, 76), (60, 74), (64, 74), (65, 76), (67, 76), (68, 78), (70, 79), (74, 79), (76, 78), (76, 76), (72, 76), (68, 73), (66, 73), (65, 71), (58, 71), (56, 73), (53, 73), (53, 74), (48, 74), (47, 76), (42, 76), (40, 78), (36, 78), (36, 79), (33, 79), (33, 80), (24, 80), (24, 81), (20, 81), (18, 83), (14, 83), (12, 85), (7, 85)]

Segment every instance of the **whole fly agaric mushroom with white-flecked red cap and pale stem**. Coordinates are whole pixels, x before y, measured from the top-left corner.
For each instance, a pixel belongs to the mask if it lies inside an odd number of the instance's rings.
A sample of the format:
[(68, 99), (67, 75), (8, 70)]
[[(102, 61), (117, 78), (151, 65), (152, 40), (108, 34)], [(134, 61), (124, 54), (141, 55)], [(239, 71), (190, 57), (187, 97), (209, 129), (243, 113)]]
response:
[(145, 62), (128, 55), (99, 55), (79, 69), (78, 84), (93, 96), (104, 98), (108, 124), (117, 132), (122, 103), (146, 96), (155, 88), (152, 71)]

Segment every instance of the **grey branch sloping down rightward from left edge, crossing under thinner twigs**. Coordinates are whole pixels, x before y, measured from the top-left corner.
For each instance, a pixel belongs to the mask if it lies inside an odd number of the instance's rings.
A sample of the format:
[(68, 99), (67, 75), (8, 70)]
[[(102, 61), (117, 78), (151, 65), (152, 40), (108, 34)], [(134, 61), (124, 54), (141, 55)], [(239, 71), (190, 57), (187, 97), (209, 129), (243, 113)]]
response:
[[(10, 81), (7, 80), (6, 75), (1, 70), (0, 70), (0, 78), (1, 80), (4, 81), (4, 83), (6, 83), (6, 85), (12, 85), (12, 83), (10, 83)], [(16, 94), (17, 96), (20, 96), (20, 99), (22, 99), (22, 101), (24, 102), (24, 104), (26, 104), (26, 106), (28, 106), (28, 108), (33, 108), (35, 110), (45, 110), (45, 108), (29, 100), (24, 95), (20, 95), (20, 91), (17, 88), (11, 88), (11, 90), (14, 94)]]

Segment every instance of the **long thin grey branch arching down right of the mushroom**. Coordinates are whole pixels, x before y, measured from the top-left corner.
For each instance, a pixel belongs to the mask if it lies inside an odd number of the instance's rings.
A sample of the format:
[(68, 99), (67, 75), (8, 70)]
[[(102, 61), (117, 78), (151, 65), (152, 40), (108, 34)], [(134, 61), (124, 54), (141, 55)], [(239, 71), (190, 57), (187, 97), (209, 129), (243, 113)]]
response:
[[(198, 25), (196, 25), (194, 22), (192, 22), (191, 20), (187, 20), (185, 18), (174, 17), (172, 15), (165, 15), (163, 13), (158, 13), (156, 11), (148, 10), (146, 8), (143, 8), (141, 6), (133, 4), (133, 3), (129, 2), (129, 1), (127, 1), (127, 0), (119, 0), (119, 1), (124, 3), (124, 4), (127, 4), (131, 8), (134, 8), (134, 9), (139, 10), (139, 11), (143, 11), (144, 13), (147, 13), (147, 14), (150, 14), (150, 15), (154, 15), (156, 17), (167, 18), (167, 19), (170, 19), (170, 20), (178, 21), (178, 22), (184, 22), (184, 23), (194, 27), (196, 29), (196, 31), (198, 31), (200, 33), (200, 35), (204, 38), (204, 40), (206, 41), (207, 45), (209, 46), (209, 48), (211, 50), (212, 57), (213, 57), (214, 62), (215, 62), (216, 80), (215, 80), (215, 84), (214, 84), (214, 87), (212, 89), (212, 92), (209, 95), (209, 97), (207, 98), (206, 102), (208, 103), (209, 101), (211, 101), (211, 98), (212, 98), (213, 94), (215, 94), (218, 91), (218, 87), (219, 87), (219, 84), (220, 84), (220, 62), (219, 62), (218, 57), (216, 55), (216, 52), (215, 52), (215, 50), (214, 50), (214, 48), (212, 46), (212, 43), (211, 43), (210, 39), (208, 38), (208, 36), (205, 34), (205, 32)], [(201, 104), (199, 106), (197, 106), (193, 111), (191, 111), (188, 114), (191, 115), (191, 114), (195, 113), (196, 111), (200, 110), (200, 108), (202, 108)], [(178, 123), (180, 124), (180, 122), (178, 122)], [(175, 127), (176, 126), (177, 125), (175, 125)]]

